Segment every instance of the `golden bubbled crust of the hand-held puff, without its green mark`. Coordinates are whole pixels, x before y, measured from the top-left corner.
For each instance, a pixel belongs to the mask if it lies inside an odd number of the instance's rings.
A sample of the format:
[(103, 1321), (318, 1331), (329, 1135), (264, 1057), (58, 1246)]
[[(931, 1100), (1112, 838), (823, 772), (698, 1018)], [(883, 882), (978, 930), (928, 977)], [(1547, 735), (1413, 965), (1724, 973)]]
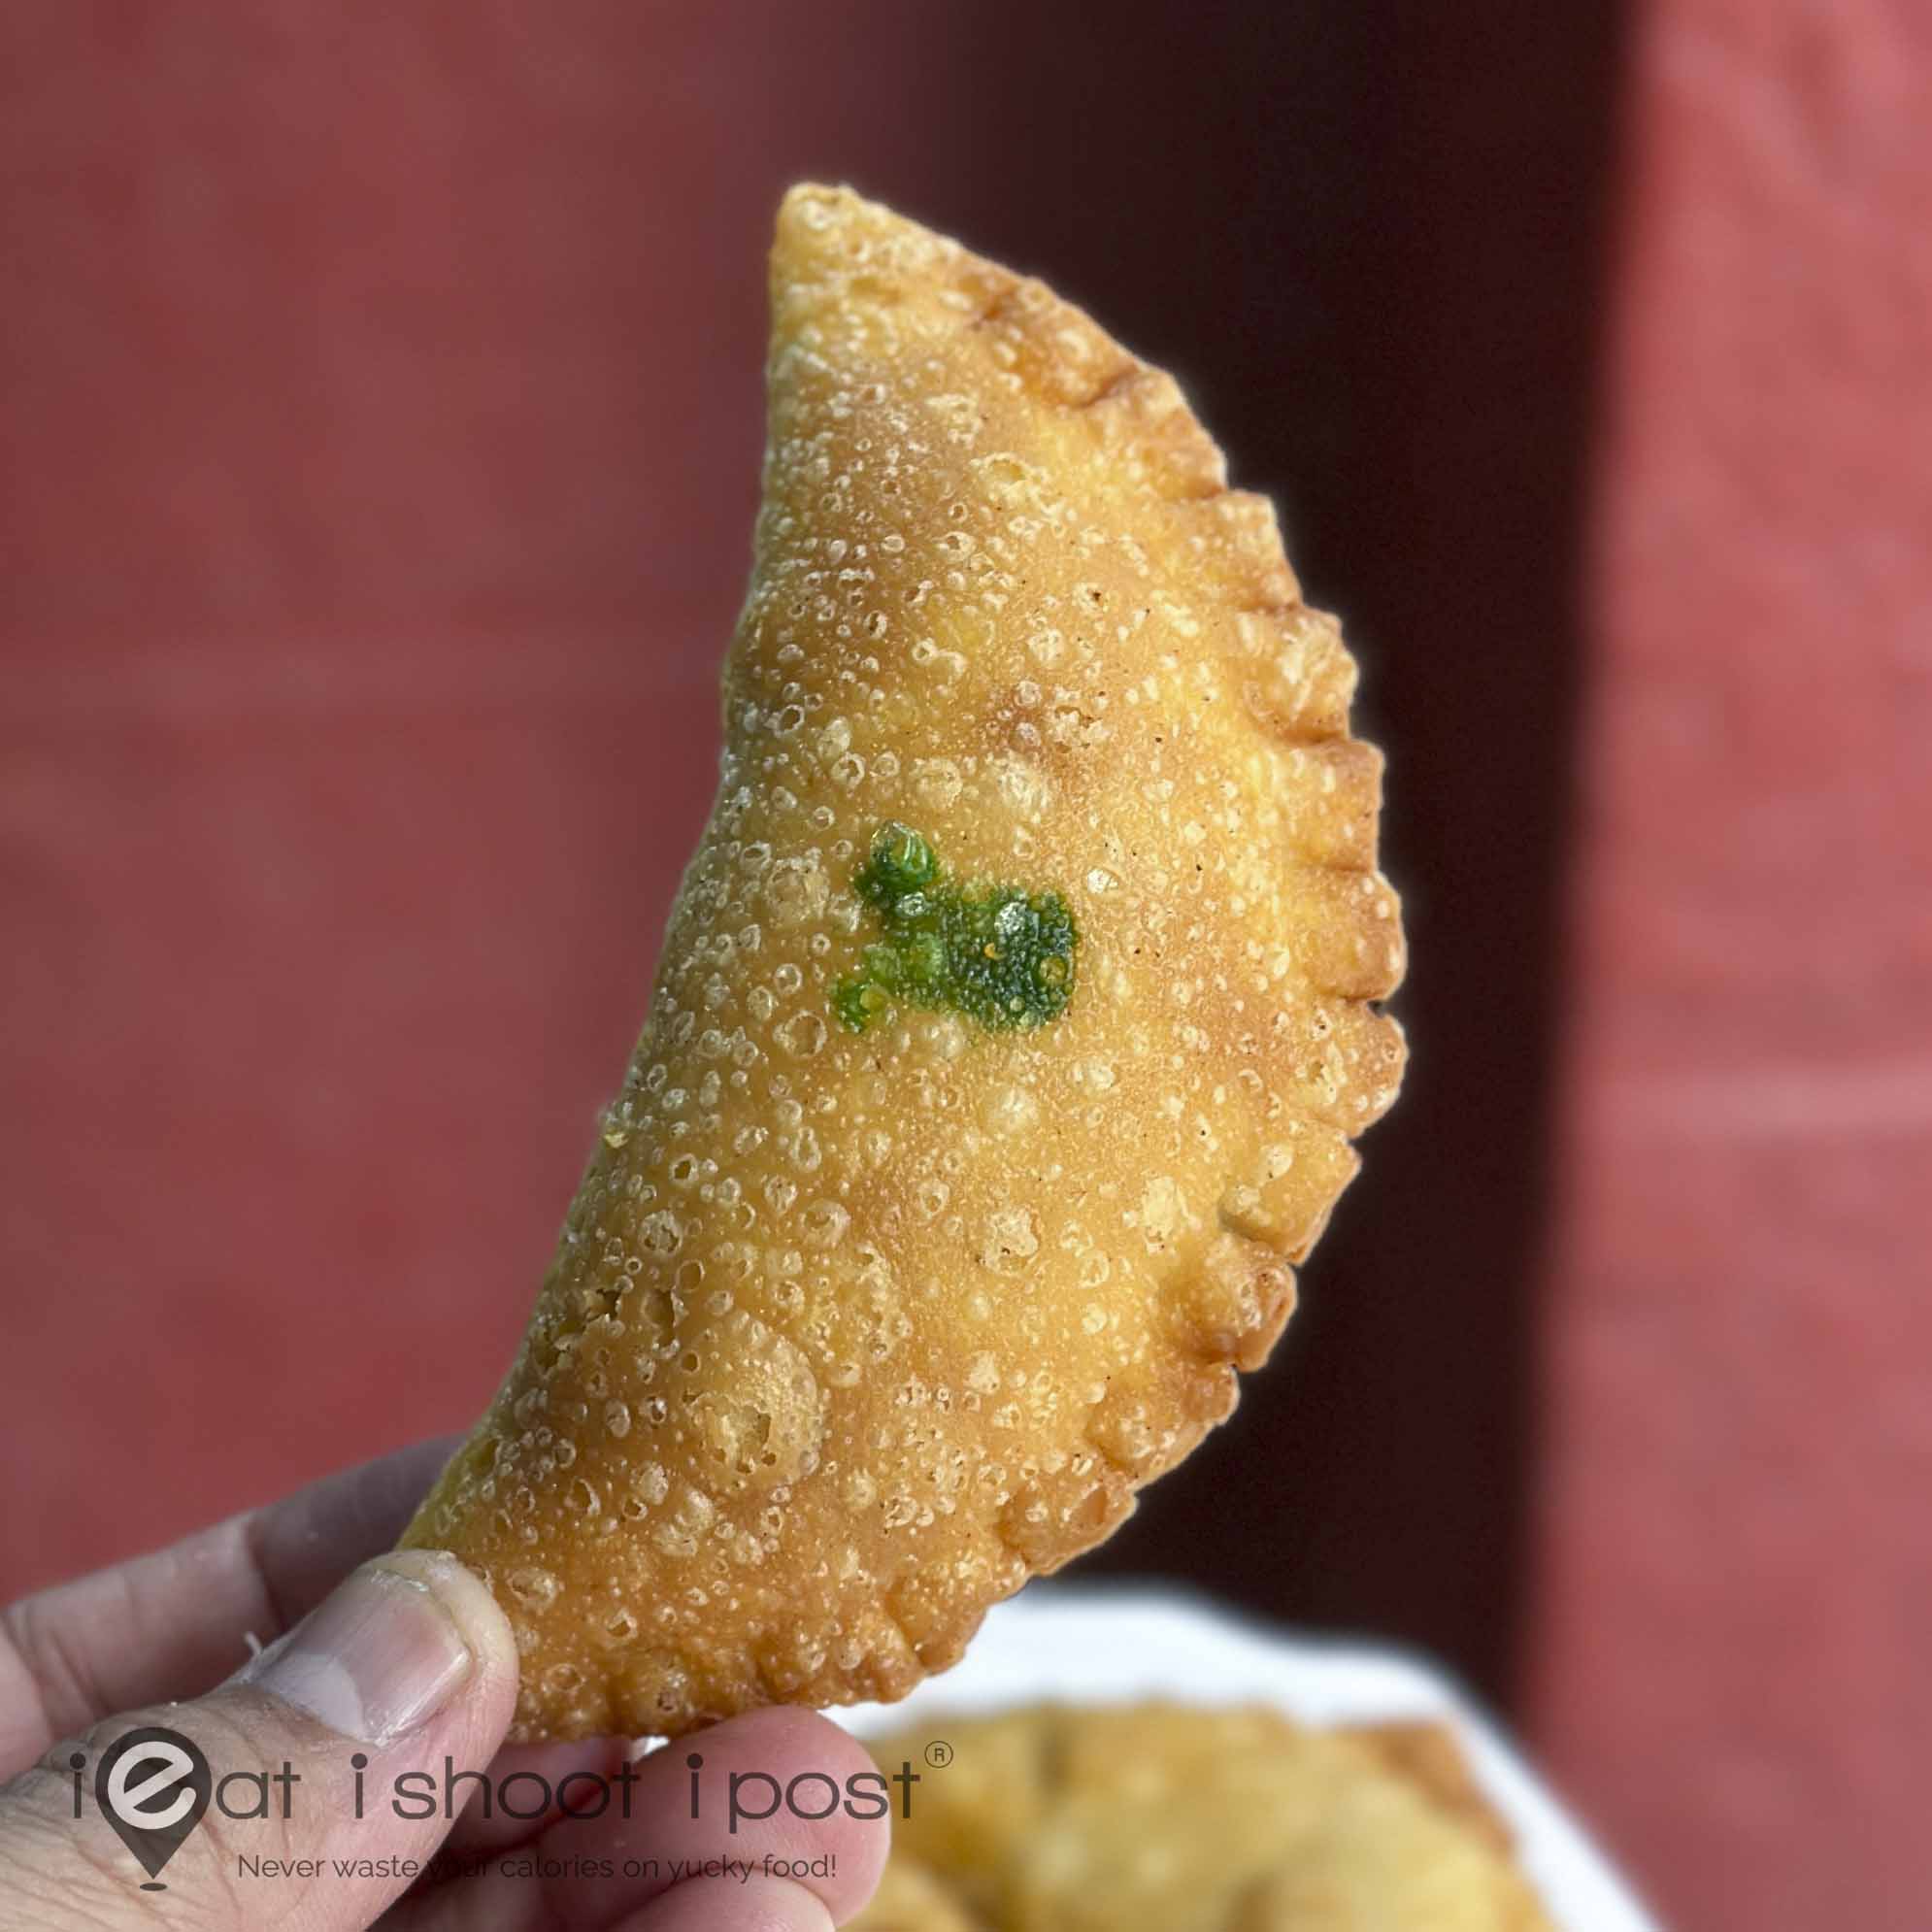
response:
[[(1173, 381), (852, 193), (771, 263), (717, 804), (524, 1350), (408, 1540), (518, 1735), (902, 1696), (1235, 1403), (1395, 1097), (1354, 665)], [(1057, 893), (1065, 1012), (833, 989), (918, 829)]]

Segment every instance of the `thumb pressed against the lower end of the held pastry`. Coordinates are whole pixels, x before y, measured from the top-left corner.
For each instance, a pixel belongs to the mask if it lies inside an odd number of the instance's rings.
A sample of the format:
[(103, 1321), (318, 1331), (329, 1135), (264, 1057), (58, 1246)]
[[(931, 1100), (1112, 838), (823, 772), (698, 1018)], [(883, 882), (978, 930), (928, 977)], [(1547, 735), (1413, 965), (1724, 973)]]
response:
[[(8, 1926), (359, 1932), (450, 1830), (444, 1758), (481, 1770), (514, 1706), (516, 1644), (477, 1577), (429, 1549), (365, 1563), (218, 1690), (108, 1718), (0, 1789)], [(182, 1743), (116, 1758), (143, 1727)], [(410, 1772), (433, 1774), (435, 1803), (402, 1806), (421, 1818), (398, 1816)], [(143, 1806), (187, 1814), (197, 1783), (199, 1822), (141, 1832)]]

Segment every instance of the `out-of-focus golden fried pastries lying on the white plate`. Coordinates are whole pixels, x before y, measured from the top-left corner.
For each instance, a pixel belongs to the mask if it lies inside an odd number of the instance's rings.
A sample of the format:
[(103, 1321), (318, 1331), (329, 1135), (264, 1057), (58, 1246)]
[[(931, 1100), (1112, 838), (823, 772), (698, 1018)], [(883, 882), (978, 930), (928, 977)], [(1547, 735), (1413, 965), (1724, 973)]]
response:
[(1551, 1932), (1441, 1723), (1032, 1704), (941, 1729), (854, 1932)]

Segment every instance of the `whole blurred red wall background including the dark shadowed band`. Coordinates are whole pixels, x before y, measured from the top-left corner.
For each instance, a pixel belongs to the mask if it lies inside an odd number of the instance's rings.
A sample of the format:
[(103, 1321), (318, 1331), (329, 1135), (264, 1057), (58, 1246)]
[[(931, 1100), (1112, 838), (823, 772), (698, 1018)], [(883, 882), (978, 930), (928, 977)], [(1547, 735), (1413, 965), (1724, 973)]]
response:
[(1182, 373), (1391, 753), (1408, 1095), (1092, 1569), (1447, 1656), (1687, 1924), (1924, 1924), (1920, 12), (0, 54), (8, 1594), (493, 1387), (709, 802), (771, 209), (852, 178)]

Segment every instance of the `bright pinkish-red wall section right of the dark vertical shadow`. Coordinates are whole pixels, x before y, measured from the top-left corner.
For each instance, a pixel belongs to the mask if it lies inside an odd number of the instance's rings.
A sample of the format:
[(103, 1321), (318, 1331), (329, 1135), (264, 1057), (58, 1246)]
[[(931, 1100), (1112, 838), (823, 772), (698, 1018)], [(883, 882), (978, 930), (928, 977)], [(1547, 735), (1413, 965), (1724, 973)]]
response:
[(1932, 1924), (1932, 21), (1627, 97), (1532, 1729), (1685, 1924)]

